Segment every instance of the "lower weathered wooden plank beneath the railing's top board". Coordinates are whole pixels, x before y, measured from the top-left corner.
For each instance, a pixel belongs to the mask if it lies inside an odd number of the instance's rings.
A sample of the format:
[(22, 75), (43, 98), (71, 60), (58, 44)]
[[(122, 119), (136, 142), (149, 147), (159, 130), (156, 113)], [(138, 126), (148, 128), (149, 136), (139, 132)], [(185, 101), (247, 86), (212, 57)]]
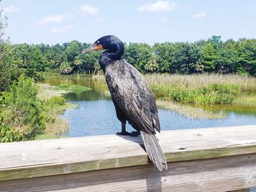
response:
[(234, 191), (256, 186), (256, 154), (0, 182), (0, 191)]

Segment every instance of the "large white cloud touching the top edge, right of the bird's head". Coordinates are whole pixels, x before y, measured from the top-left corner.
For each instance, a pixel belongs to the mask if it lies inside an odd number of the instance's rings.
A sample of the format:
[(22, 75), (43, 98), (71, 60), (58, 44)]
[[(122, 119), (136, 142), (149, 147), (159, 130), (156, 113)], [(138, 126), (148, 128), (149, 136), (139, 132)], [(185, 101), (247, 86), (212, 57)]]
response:
[(177, 7), (176, 3), (170, 3), (170, 1), (159, 0), (154, 3), (146, 3), (138, 7), (139, 12), (163, 12), (170, 11)]

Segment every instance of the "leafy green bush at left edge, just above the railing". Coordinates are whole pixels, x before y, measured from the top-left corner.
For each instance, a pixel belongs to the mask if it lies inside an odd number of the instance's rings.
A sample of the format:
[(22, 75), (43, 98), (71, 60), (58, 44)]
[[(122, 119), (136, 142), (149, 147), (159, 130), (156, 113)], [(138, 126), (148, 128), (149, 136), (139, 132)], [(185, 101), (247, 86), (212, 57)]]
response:
[(31, 78), (21, 75), (0, 97), (1, 142), (33, 139), (45, 128), (43, 107)]

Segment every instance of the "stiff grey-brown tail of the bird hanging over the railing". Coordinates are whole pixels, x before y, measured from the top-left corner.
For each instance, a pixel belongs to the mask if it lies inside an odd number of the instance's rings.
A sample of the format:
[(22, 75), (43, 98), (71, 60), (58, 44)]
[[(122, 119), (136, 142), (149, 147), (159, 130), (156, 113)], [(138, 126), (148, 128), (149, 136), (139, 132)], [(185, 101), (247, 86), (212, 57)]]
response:
[(154, 166), (162, 172), (162, 169), (167, 169), (167, 162), (164, 153), (157, 141), (157, 137), (154, 134), (147, 134), (140, 131), (141, 137), (148, 153), (148, 157), (153, 162)]

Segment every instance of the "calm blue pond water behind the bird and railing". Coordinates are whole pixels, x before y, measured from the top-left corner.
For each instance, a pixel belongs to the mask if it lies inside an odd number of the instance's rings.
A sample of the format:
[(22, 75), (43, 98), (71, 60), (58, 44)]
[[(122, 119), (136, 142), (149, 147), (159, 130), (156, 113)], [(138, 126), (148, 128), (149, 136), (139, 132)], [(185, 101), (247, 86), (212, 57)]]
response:
[[(64, 97), (79, 107), (67, 109), (63, 117), (69, 122), (68, 137), (83, 137), (100, 134), (116, 134), (121, 123), (110, 98), (105, 80), (92, 77), (61, 77), (46, 80), (50, 85), (75, 84), (92, 88), (91, 91), (67, 93)], [(207, 108), (205, 106), (205, 108)], [(211, 110), (212, 107), (211, 107)], [(240, 126), (256, 124), (256, 109), (243, 106), (214, 106), (214, 110), (225, 111), (222, 119), (187, 118), (170, 110), (159, 109), (162, 130), (184, 128), (208, 128), (217, 126)], [(127, 123), (127, 130), (133, 131)]]

